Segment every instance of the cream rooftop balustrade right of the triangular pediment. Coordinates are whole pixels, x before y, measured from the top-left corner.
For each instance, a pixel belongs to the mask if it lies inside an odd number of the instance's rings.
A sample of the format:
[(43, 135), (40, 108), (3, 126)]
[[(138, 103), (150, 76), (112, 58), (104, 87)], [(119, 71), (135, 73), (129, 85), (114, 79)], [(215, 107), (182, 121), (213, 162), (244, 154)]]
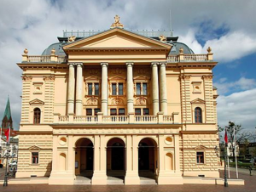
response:
[(206, 61), (209, 60), (207, 54), (177, 54), (167, 57), (167, 63), (176, 63), (181, 61)]

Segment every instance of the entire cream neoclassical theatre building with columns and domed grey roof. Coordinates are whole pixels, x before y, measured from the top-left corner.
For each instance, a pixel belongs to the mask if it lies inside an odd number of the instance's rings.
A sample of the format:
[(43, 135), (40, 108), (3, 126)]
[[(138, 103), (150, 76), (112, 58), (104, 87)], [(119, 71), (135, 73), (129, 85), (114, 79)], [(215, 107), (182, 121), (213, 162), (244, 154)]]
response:
[[(17, 178), (49, 184), (183, 184), (218, 178), (212, 50), (171, 31), (64, 31), (22, 54)], [(117, 184), (117, 183), (116, 183)]]

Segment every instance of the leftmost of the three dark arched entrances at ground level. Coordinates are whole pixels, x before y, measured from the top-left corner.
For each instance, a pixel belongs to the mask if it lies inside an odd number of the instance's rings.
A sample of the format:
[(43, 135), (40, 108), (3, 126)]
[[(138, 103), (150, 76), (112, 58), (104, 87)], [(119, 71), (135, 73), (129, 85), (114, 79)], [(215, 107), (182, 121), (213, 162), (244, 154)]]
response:
[(94, 159), (93, 144), (89, 138), (79, 138), (75, 146), (75, 175), (91, 178)]

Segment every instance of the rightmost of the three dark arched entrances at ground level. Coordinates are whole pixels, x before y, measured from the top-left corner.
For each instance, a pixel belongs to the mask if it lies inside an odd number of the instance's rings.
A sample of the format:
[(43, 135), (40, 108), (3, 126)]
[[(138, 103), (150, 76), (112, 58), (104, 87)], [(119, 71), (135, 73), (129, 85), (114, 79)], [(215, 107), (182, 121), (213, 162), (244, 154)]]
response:
[(143, 138), (138, 144), (139, 176), (154, 178), (157, 167), (157, 144), (153, 138)]

